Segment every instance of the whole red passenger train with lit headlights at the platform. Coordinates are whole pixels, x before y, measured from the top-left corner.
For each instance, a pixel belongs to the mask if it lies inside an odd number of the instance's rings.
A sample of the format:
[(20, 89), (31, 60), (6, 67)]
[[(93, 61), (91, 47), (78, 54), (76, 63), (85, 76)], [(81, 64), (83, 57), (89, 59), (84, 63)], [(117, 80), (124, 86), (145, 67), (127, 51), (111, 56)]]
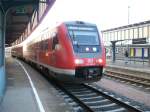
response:
[(94, 82), (105, 67), (105, 49), (95, 24), (64, 22), (34, 39), (12, 47), (12, 56), (47, 69), (65, 82)]

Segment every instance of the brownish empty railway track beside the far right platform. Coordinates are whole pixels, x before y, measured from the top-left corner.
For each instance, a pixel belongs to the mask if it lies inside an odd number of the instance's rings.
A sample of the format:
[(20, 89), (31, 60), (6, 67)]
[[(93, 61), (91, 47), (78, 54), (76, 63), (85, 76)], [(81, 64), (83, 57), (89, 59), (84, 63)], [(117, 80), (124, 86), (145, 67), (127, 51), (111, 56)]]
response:
[(150, 91), (150, 79), (148, 78), (115, 70), (106, 70), (105, 76)]

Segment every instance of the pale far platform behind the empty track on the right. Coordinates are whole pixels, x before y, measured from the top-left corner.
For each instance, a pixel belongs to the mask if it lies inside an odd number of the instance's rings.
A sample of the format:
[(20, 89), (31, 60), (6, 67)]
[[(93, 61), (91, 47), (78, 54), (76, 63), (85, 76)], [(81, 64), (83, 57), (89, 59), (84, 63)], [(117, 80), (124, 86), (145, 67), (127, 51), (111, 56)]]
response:
[(127, 63), (125, 63), (124, 60), (116, 60), (113, 62), (110, 59), (106, 59), (106, 68), (107, 67), (115, 67), (150, 74), (150, 65), (148, 62), (127, 61)]

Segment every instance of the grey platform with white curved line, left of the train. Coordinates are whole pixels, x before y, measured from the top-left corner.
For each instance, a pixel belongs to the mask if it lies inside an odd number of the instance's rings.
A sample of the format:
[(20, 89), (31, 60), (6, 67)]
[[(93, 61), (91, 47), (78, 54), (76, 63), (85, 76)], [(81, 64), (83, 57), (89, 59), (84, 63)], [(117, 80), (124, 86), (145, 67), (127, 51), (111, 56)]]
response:
[(40, 73), (14, 58), (6, 59), (7, 87), (0, 112), (70, 112), (58, 91)]

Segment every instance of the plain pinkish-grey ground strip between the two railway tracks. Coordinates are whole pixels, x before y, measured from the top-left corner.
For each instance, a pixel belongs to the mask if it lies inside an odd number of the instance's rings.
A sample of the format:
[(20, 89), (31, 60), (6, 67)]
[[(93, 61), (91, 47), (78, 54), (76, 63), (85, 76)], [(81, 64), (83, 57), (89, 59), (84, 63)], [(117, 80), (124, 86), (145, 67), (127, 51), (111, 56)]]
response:
[(117, 94), (126, 96), (134, 101), (143, 103), (144, 105), (150, 107), (150, 93), (140, 91), (129, 85), (122, 84), (113, 80), (102, 78), (97, 84), (103, 88), (111, 90)]

